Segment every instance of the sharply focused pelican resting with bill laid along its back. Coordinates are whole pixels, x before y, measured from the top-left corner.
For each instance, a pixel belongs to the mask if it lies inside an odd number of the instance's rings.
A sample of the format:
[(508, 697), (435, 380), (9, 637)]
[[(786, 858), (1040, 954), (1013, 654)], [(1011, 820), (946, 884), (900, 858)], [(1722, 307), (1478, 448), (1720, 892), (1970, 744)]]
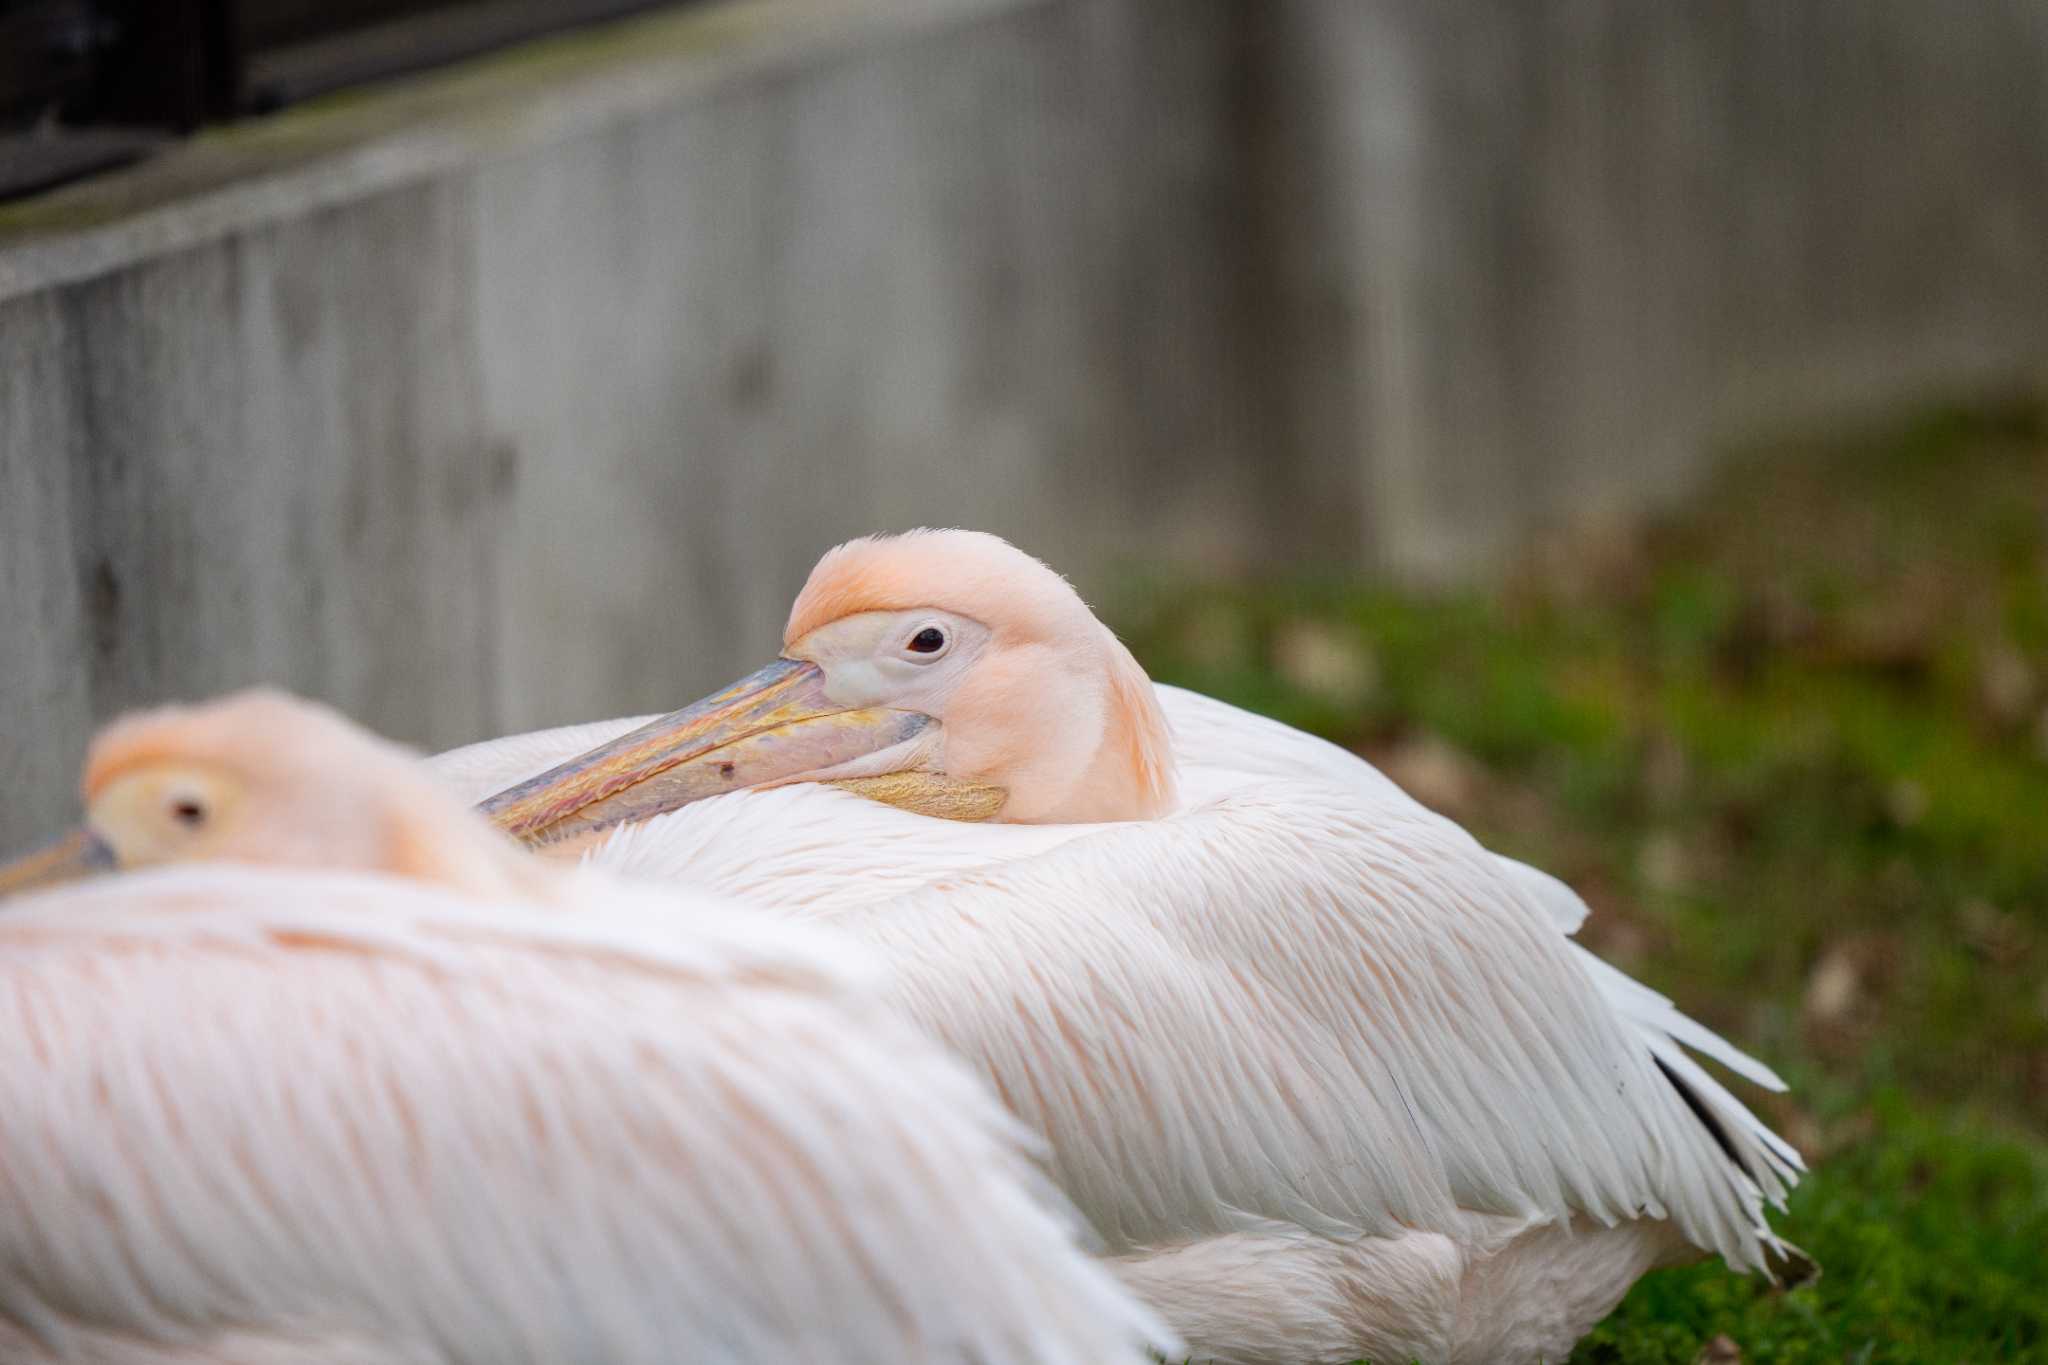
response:
[(1686, 1048), (1784, 1083), (1577, 948), (1579, 896), (1153, 688), (993, 536), (838, 546), (739, 684), (438, 769), (532, 845), (860, 939), (1198, 1361), (1559, 1361), (1649, 1269), (1802, 1261), (1765, 1220), (1798, 1154)]

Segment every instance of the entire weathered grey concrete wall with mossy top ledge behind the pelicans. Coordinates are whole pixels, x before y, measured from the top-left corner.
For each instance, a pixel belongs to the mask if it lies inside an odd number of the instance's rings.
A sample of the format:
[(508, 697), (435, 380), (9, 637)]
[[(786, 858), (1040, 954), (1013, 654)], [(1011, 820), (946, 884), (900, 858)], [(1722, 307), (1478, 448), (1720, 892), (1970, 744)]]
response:
[(2048, 338), (2038, 4), (750, 0), (0, 209), (0, 847), (92, 722), (694, 696), (831, 540), (1458, 573)]

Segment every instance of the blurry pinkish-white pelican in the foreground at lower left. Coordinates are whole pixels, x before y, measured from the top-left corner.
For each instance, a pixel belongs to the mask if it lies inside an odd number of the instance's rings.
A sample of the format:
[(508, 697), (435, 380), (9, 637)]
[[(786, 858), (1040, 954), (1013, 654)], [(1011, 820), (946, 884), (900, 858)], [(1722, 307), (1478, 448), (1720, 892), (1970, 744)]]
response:
[(1171, 1349), (829, 933), (526, 857), (281, 696), (113, 726), (0, 882), (0, 1359)]

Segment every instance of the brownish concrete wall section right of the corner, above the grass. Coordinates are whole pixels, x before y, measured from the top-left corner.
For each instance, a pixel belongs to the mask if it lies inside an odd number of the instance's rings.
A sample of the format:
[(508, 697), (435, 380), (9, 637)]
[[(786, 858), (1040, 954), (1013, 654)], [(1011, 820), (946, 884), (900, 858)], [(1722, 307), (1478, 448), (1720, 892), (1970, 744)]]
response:
[(1260, 10), (1294, 448), (1460, 573), (1716, 442), (2048, 360), (2048, 6)]

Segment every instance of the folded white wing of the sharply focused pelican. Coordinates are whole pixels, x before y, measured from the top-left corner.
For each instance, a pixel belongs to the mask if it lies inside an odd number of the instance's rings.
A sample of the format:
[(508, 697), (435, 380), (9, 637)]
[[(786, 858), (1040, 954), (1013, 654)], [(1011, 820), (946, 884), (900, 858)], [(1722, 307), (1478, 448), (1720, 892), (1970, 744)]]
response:
[(1268, 782), (831, 923), (1051, 1138), (1118, 1248), (1233, 1218), (1376, 1234), (1458, 1209), (1669, 1216), (1751, 1269), (1776, 1248), (1763, 1191), (1663, 1052), (1784, 1175), (1761, 1126), (1434, 817)]

